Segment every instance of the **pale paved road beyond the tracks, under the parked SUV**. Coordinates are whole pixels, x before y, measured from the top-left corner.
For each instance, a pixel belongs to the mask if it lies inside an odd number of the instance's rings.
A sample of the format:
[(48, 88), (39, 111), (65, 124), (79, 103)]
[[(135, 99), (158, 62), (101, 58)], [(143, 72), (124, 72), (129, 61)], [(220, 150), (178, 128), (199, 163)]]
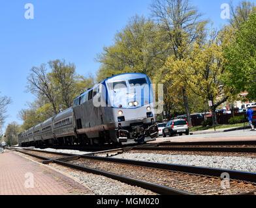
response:
[(248, 129), (240, 131), (230, 131), (222, 133), (208, 133), (205, 135), (173, 136), (167, 138), (157, 138), (157, 142), (200, 142), (200, 141), (237, 141), (237, 140), (256, 140), (256, 131)]

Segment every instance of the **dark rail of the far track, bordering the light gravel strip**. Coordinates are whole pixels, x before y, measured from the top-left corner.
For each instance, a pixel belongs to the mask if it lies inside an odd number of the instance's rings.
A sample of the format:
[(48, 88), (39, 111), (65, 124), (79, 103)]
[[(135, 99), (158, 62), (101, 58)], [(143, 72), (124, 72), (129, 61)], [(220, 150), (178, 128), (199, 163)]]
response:
[(146, 151), (209, 151), (209, 152), (225, 152), (225, 153), (256, 153), (256, 148), (229, 148), (229, 147), (135, 147), (132, 150)]

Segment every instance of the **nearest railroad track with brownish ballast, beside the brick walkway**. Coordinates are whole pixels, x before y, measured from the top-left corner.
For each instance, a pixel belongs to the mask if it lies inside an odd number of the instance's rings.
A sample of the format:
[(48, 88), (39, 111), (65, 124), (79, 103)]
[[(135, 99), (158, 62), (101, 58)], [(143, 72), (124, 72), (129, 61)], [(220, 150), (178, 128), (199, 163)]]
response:
[[(151, 190), (157, 194), (246, 195), (256, 193), (256, 174), (250, 172), (95, 157), (93, 155), (48, 153), (31, 149), (16, 151), (40, 158), (44, 164), (54, 162), (82, 172), (103, 175), (129, 185)], [(230, 177), (230, 188), (221, 187), (223, 173)]]

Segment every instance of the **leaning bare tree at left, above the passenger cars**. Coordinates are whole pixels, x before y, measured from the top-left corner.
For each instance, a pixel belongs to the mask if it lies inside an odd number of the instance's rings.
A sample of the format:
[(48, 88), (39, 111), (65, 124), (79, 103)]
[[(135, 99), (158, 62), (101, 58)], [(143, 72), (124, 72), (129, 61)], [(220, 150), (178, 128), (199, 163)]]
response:
[(48, 99), (52, 105), (54, 113), (57, 114), (57, 99), (54, 94), (56, 89), (54, 89), (54, 86), (52, 85), (52, 81), (47, 73), (45, 64), (31, 69), (31, 74), (27, 77), (27, 83), (29, 84), (27, 86), (28, 90), (37, 97), (43, 96)]

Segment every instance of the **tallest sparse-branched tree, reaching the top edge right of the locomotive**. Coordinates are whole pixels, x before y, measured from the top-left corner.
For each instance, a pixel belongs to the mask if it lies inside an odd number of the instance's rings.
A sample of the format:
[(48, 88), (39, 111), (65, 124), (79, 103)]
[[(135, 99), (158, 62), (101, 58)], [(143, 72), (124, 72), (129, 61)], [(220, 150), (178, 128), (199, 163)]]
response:
[[(189, 4), (189, 0), (155, 0), (152, 4), (152, 18), (166, 33), (170, 51), (176, 59), (184, 59), (189, 46), (193, 42), (202, 42), (206, 34), (204, 27), (207, 21), (202, 21), (197, 8)], [(184, 107), (188, 122), (192, 125), (187, 92), (182, 87)]]

